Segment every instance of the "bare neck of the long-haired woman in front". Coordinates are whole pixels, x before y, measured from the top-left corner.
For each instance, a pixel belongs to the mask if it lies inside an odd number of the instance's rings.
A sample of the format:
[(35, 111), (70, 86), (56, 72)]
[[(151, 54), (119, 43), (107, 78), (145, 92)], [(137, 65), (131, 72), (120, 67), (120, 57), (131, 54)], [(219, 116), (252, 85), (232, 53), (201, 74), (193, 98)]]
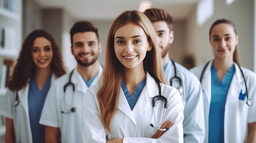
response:
[[(128, 90), (131, 89), (132, 91), (129, 91), (129, 93), (133, 93), (133, 90), (135, 87), (146, 78), (146, 73), (143, 68), (143, 62), (141, 63), (141, 66), (138, 65), (135, 68), (124, 69), (123, 74), (123, 80), (125, 81), (125, 84), (127, 85)], [(131, 94), (130, 94), (131, 95)]]

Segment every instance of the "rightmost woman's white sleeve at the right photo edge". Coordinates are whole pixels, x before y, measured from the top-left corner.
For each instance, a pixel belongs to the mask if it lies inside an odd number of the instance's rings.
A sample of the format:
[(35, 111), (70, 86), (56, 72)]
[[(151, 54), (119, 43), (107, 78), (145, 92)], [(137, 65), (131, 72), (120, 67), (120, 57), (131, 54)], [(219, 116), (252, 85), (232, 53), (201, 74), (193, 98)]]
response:
[[(255, 74), (254, 74), (255, 75)], [(256, 122), (256, 77), (249, 79), (246, 82), (248, 86), (249, 99), (252, 99), (252, 106), (248, 107), (248, 124)], [(247, 105), (248, 106), (248, 105)]]

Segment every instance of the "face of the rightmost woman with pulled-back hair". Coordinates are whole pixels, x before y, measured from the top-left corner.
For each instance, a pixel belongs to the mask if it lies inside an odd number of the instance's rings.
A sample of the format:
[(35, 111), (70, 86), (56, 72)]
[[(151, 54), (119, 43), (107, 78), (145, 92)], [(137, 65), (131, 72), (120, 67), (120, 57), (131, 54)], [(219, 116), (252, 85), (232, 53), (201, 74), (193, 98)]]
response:
[(233, 52), (238, 43), (238, 35), (236, 35), (232, 25), (217, 24), (211, 30), (210, 43), (215, 58), (233, 58)]

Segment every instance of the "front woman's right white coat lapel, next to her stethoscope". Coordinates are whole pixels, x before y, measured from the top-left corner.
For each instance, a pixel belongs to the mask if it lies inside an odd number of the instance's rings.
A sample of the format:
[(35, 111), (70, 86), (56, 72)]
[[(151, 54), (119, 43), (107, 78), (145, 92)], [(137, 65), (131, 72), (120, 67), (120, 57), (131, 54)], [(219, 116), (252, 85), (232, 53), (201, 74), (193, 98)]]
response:
[[(143, 113), (145, 110), (149, 109), (151, 107), (149, 98), (152, 98), (156, 95), (158, 95), (158, 85), (156, 84), (156, 81), (153, 79), (153, 77), (150, 76), (150, 74), (147, 72), (146, 75), (146, 85), (141, 92), (141, 95), (135, 104), (133, 108), (133, 115), (134, 118), (139, 116), (141, 113)], [(152, 108), (153, 109), (153, 108)]]

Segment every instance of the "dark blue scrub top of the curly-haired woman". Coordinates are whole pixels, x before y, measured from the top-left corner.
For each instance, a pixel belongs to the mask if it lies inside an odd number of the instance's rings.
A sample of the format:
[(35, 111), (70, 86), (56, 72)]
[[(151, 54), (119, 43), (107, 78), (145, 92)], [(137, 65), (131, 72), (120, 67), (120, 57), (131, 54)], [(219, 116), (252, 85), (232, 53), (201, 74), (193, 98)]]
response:
[(45, 142), (45, 126), (39, 124), (39, 119), (41, 117), (45, 98), (51, 86), (51, 77), (52, 74), (47, 77), (45, 85), (43, 85), (41, 91), (39, 91), (35, 77), (31, 77), (29, 81), (28, 113), (33, 143)]

